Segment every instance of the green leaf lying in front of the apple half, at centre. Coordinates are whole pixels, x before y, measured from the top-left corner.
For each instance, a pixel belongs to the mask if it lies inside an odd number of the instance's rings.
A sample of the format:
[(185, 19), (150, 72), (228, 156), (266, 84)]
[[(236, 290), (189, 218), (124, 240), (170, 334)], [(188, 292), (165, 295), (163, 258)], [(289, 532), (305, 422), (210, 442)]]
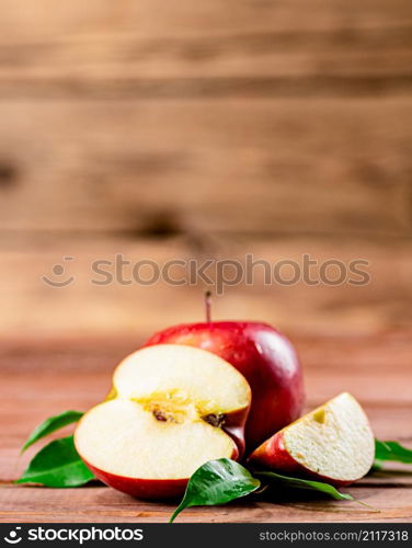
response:
[(170, 523), (184, 509), (225, 504), (255, 491), (261, 486), (249, 470), (229, 458), (209, 460), (190, 479), (183, 500), (173, 512)]

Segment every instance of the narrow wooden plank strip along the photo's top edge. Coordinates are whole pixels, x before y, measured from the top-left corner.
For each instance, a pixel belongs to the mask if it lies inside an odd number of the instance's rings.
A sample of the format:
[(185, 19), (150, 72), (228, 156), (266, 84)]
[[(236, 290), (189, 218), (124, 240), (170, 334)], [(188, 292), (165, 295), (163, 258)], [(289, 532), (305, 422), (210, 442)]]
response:
[[(56, 8), (55, 0), (3, 0), (3, 41), (90, 34), (133, 33), (139, 36), (217, 35), (254, 28), (339, 31), (408, 24), (412, 20), (408, 0), (210, 0), (197, 5), (190, 0), (164, 4), (161, 0), (139, 3), (118, 0), (73, 0)], [(299, 16), (297, 16), (299, 15)]]

